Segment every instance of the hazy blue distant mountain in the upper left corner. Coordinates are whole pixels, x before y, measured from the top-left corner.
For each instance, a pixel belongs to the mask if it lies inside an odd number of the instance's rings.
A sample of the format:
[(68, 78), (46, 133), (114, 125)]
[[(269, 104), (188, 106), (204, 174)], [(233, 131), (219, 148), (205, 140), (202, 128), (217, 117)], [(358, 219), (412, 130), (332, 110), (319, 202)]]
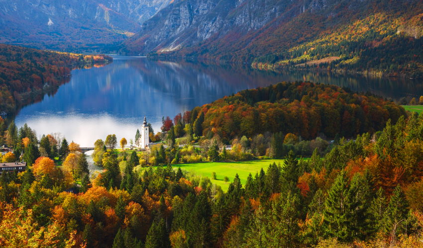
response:
[(0, 0), (0, 43), (113, 49), (171, 0)]

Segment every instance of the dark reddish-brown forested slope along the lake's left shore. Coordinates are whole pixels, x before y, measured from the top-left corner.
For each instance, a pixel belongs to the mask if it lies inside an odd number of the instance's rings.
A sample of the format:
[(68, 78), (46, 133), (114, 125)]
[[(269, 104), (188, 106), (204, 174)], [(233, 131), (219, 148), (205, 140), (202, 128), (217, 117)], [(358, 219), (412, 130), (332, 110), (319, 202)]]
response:
[(15, 113), (25, 104), (54, 94), (75, 66), (110, 62), (104, 55), (85, 56), (0, 44), (0, 113)]

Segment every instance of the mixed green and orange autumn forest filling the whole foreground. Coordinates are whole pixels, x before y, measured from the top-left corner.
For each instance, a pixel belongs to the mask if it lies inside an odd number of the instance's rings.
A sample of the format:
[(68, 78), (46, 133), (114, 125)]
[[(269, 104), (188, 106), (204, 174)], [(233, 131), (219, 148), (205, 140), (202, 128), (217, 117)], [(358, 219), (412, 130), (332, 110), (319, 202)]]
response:
[[(15, 150), (2, 161), (22, 152), (32, 166), (0, 176), (0, 246), (421, 247), (423, 115), (394, 123), (323, 157), (289, 152), (245, 185), (235, 175), (227, 192), (170, 164), (142, 168), (135, 151), (113, 149), (113, 135), (90, 179), (78, 144), (10, 124)], [(161, 146), (164, 159), (175, 149)]]

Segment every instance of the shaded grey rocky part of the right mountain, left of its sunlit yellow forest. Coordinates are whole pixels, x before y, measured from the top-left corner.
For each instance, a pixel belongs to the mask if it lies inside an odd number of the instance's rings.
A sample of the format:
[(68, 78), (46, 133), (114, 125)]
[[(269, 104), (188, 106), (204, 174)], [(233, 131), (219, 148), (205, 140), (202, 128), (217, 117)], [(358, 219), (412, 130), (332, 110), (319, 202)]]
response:
[(175, 0), (144, 22), (122, 51), (251, 61), (372, 11), (404, 10), (413, 2), (418, 0)]

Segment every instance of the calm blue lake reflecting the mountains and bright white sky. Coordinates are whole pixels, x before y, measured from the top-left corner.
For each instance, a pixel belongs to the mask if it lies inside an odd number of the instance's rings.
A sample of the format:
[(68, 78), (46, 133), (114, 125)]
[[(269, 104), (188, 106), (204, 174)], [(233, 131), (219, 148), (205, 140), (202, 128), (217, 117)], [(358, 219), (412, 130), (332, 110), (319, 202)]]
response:
[(217, 66), (201, 62), (155, 62), (146, 58), (114, 57), (104, 67), (76, 69), (71, 80), (52, 96), (24, 107), (16, 116), (37, 135), (59, 132), (68, 141), (93, 146), (115, 133), (118, 140), (134, 139), (144, 116), (155, 131), (162, 117), (210, 103), (247, 88), (280, 81), (313, 81), (372, 92), (385, 98), (423, 95), (423, 82), (370, 79), (331, 73), (298, 71), (276, 74), (247, 65)]

